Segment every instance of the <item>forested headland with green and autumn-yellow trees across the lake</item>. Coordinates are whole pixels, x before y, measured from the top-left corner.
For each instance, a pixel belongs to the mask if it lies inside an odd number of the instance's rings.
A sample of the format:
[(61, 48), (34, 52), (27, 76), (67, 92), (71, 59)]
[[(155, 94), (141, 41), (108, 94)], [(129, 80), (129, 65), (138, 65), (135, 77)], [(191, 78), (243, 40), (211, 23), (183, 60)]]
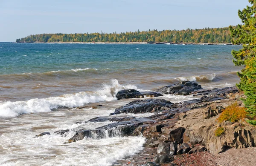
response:
[[(234, 27), (236, 28), (236, 27)], [(168, 43), (231, 43), (230, 29), (205, 28), (186, 30), (135, 31), (125, 33), (35, 34), (17, 39), (18, 43), (50, 42), (168, 42)]]

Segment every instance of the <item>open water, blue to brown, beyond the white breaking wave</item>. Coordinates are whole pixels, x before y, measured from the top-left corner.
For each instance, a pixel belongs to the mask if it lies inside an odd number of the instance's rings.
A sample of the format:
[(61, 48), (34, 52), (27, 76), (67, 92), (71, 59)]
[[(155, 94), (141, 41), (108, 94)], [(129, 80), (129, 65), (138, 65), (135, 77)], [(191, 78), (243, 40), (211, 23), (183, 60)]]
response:
[(154, 89), (180, 80), (235, 85), (241, 46), (0, 43), (0, 100), (95, 91), (116, 79)]

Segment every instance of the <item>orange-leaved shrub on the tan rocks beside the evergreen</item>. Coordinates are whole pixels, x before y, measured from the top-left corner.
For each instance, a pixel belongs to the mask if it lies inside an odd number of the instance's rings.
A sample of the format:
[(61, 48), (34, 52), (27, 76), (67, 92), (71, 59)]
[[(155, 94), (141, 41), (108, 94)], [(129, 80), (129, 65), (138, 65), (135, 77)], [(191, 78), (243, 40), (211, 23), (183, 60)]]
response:
[(235, 123), (239, 120), (243, 120), (246, 117), (246, 110), (244, 107), (240, 107), (237, 102), (228, 106), (218, 117), (218, 122), (221, 123), (224, 120)]

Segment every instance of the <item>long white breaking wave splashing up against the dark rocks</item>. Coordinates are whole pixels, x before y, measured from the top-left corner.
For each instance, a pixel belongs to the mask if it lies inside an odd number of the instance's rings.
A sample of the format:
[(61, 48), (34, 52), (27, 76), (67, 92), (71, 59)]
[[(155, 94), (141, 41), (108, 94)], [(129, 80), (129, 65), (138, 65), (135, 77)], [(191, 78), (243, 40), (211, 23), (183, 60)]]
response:
[(0, 116), (15, 117), (19, 114), (50, 112), (58, 107), (77, 107), (87, 103), (117, 100), (116, 94), (121, 89), (141, 90), (135, 85), (122, 86), (118, 83), (118, 80), (111, 80), (110, 84), (103, 84), (103, 87), (96, 92), (79, 92), (58, 97), (2, 102), (0, 103)]

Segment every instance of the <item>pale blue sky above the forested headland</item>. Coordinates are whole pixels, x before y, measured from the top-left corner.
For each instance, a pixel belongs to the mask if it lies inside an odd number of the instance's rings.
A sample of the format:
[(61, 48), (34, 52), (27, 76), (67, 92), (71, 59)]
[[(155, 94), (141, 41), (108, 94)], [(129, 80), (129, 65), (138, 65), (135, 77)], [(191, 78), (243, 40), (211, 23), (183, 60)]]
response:
[(241, 24), (248, 0), (0, 0), (0, 42), (30, 34), (201, 29)]

